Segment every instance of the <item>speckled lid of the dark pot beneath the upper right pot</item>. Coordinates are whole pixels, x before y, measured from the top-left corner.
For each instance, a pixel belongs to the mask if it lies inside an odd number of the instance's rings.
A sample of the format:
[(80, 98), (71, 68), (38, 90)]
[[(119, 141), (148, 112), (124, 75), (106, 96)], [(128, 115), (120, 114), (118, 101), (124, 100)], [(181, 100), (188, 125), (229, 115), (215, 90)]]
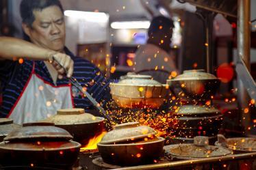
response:
[(220, 115), (220, 111), (211, 106), (200, 106), (200, 105), (183, 105), (179, 107), (175, 115)]

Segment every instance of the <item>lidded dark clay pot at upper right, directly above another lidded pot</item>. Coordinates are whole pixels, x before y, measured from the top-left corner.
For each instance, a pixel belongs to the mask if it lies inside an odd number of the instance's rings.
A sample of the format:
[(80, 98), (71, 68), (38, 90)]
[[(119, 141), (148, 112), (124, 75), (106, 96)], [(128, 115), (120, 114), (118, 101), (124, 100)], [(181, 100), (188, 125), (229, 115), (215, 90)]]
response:
[(175, 79), (168, 79), (167, 84), (177, 98), (209, 100), (216, 94), (220, 80), (205, 70), (185, 70)]

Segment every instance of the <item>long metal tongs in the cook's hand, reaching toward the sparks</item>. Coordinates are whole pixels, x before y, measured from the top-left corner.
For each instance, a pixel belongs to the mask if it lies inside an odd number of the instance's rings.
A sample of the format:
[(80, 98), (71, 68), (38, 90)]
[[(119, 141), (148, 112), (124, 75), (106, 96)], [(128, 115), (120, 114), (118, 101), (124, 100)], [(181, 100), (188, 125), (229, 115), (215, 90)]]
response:
[[(66, 72), (66, 69), (54, 57), (53, 57), (53, 60), (56, 63), (58, 63), (64, 69), (64, 71)], [(72, 85), (77, 87), (77, 89), (79, 89), (79, 91), (81, 91), (84, 94), (84, 96), (86, 96), (90, 100), (90, 102), (92, 102), (94, 107), (99, 110), (99, 113), (101, 113), (101, 115), (103, 115), (103, 117), (105, 117), (110, 122), (114, 122), (112, 117), (108, 116), (105, 109), (103, 109), (103, 107), (101, 107), (101, 104), (99, 104), (99, 102), (97, 102), (94, 98), (92, 98), (92, 96), (87, 91), (83, 90), (83, 87), (80, 85), (80, 83), (77, 81), (77, 79), (75, 79), (73, 76), (71, 76), (68, 79), (71, 81)]]

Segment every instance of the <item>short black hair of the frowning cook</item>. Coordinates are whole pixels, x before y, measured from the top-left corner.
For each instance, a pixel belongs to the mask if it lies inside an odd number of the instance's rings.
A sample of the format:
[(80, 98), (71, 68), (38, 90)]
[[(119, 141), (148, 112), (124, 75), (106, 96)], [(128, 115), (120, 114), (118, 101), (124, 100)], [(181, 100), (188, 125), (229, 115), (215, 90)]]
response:
[(29, 27), (32, 26), (32, 23), (35, 20), (34, 10), (43, 10), (44, 8), (56, 5), (62, 10), (62, 4), (59, 0), (23, 0), (20, 5), (20, 12), (22, 22), (27, 24)]

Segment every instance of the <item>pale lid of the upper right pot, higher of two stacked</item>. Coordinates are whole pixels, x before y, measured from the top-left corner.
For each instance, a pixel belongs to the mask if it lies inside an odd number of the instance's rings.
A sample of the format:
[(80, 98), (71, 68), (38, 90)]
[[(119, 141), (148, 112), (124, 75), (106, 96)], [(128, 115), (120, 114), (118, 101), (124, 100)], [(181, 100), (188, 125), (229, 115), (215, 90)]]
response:
[(205, 70), (184, 70), (183, 74), (170, 79), (169, 81), (188, 81), (188, 80), (212, 80), (218, 79), (214, 74), (209, 74)]

